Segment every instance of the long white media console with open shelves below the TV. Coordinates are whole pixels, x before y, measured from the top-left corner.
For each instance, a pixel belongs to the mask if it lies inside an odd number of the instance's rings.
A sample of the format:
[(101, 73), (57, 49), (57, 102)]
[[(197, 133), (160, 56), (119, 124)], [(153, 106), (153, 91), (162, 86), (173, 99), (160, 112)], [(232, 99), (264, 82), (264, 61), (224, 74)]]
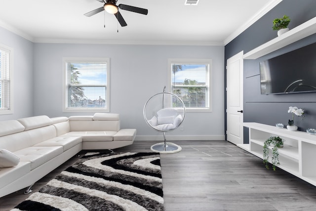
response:
[(278, 149), (280, 165), (277, 167), (316, 186), (316, 135), (259, 123), (244, 123), (243, 126), (249, 128), (249, 144), (237, 144), (238, 147), (263, 159), (265, 140), (279, 136), (285, 142), (284, 147)]

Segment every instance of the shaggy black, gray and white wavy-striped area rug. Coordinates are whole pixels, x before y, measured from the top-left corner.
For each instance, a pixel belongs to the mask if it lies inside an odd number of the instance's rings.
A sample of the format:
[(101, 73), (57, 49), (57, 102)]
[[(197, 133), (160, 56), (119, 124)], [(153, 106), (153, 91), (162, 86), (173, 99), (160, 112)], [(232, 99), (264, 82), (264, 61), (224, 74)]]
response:
[(13, 211), (163, 211), (159, 153), (87, 153)]

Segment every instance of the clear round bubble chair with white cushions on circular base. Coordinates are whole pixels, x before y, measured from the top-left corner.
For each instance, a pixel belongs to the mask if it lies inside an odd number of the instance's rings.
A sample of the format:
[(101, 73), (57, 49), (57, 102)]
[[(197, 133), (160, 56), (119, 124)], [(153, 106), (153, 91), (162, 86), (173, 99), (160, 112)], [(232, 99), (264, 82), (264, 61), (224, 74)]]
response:
[(176, 153), (181, 146), (167, 142), (166, 132), (178, 128), (184, 121), (186, 110), (182, 100), (175, 94), (163, 92), (150, 97), (143, 110), (146, 123), (154, 130), (163, 133), (164, 142), (151, 146), (151, 150), (159, 153)]

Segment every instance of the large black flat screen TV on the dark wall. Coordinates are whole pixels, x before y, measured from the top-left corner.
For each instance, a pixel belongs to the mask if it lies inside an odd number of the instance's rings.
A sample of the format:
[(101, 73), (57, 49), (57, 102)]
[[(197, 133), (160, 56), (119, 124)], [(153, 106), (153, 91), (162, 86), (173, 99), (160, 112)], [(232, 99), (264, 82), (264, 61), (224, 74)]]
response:
[(260, 62), (261, 94), (316, 91), (316, 42)]

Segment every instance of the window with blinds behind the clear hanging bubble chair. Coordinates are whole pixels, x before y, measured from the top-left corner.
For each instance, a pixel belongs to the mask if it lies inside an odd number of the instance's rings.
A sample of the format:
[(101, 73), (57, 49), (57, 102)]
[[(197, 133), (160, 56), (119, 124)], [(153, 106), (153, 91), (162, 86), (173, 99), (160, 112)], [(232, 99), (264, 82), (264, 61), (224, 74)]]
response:
[(211, 59), (169, 59), (171, 92), (187, 111), (212, 111)]

